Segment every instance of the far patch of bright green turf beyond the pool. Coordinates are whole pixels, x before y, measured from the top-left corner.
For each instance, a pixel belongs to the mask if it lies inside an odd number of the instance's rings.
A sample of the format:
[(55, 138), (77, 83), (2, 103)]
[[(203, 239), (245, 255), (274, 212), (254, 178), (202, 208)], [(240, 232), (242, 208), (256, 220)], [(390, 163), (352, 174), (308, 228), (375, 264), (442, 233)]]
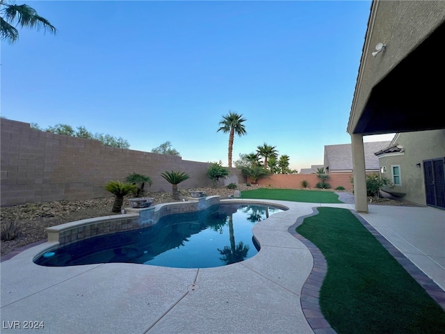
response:
[(241, 198), (289, 200), (291, 202), (307, 203), (342, 203), (337, 193), (321, 190), (259, 188), (241, 191)]

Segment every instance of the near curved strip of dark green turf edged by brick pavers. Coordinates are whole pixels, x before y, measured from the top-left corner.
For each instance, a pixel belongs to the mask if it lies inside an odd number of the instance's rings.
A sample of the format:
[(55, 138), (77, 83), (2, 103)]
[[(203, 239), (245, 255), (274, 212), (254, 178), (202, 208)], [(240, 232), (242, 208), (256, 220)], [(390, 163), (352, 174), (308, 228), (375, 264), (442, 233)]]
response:
[(348, 209), (319, 207), (296, 231), (327, 261), (320, 307), (337, 333), (445, 333), (445, 312)]

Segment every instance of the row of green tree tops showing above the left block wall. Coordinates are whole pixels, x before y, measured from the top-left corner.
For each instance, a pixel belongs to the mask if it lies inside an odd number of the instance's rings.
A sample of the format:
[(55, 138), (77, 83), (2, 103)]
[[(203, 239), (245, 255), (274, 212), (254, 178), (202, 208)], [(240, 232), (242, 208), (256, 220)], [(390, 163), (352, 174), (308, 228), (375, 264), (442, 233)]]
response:
[(63, 134), (65, 136), (73, 136), (79, 138), (95, 139), (100, 141), (102, 145), (111, 146), (112, 148), (129, 148), (130, 144), (122, 137), (114, 137), (110, 134), (92, 134), (86, 127), (80, 126), (74, 129), (71, 125), (56, 124), (54, 127), (47, 127), (42, 129), (37, 123), (31, 123), (31, 128), (44, 132), (51, 132), (53, 134)]

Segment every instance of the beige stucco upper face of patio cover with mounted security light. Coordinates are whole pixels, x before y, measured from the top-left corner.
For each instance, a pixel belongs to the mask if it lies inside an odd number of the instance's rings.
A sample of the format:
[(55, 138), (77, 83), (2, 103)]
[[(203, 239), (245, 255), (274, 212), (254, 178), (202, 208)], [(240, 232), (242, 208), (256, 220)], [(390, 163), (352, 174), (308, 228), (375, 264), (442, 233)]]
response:
[[(445, 19), (445, 1), (373, 1), (348, 133), (354, 132), (372, 88)], [(375, 46), (387, 46), (373, 57)]]

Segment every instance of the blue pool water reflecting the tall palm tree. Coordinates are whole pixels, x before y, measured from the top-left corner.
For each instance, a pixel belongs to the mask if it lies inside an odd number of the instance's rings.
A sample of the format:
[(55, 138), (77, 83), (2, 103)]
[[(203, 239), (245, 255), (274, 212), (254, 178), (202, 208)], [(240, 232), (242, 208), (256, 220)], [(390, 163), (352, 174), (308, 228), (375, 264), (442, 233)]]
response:
[(176, 268), (209, 268), (254, 256), (252, 227), (282, 209), (266, 205), (213, 205), (199, 212), (163, 216), (153, 226), (108, 234), (51, 250), (35, 260), (49, 267), (108, 262)]

